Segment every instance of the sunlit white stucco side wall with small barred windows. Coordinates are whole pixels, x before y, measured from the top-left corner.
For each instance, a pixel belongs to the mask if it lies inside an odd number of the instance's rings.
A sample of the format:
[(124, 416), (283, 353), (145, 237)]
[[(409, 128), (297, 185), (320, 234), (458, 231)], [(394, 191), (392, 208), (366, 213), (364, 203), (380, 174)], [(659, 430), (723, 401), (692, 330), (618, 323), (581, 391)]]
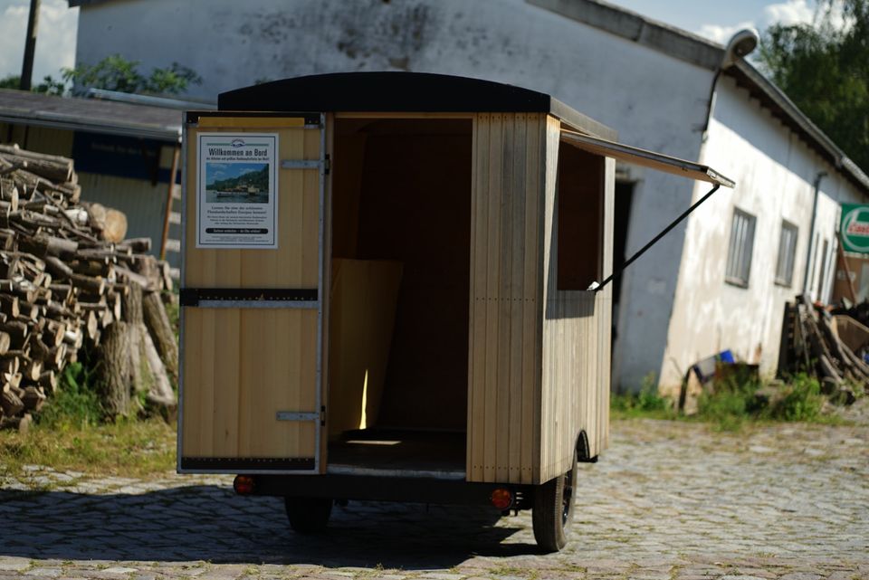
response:
[[(824, 299), (832, 280), (838, 204), (862, 201), (853, 185), (730, 78), (719, 83), (702, 162), (737, 186), (719, 190), (689, 220), (662, 367), (664, 388), (679, 385), (692, 363), (727, 348), (759, 363), (763, 373), (774, 373), (785, 302), (802, 290), (817, 173), (827, 173), (820, 182), (815, 224), (820, 243), (813, 252), (816, 264), (826, 261)], [(698, 184), (695, 198), (708, 189)], [(734, 207), (757, 217), (748, 288), (724, 281)], [(799, 228), (788, 287), (774, 280), (782, 219)], [(821, 256), (825, 239), (828, 251)], [(816, 265), (809, 283), (813, 298), (818, 297), (818, 278)]]

